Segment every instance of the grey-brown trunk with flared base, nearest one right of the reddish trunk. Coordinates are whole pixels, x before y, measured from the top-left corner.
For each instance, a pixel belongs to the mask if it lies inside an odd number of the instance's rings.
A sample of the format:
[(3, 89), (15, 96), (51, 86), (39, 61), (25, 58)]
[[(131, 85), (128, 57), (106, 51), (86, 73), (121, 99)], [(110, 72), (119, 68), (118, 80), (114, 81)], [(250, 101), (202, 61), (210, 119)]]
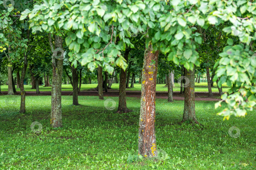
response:
[(188, 78), (189, 83), (188, 85), (186, 85), (185, 88), (184, 112), (183, 119), (181, 122), (189, 121), (198, 123), (195, 111), (195, 68), (193, 68), (192, 71), (184, 68), (184, 74)]

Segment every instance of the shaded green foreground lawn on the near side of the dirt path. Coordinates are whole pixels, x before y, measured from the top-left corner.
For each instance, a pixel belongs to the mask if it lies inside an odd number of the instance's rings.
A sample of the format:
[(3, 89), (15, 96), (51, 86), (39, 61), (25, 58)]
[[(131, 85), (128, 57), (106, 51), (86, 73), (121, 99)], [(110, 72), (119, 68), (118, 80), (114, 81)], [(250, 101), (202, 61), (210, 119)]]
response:
[[(140, 99), (127, 98), (131, 113), (115, 113), (98, 96), (62, 96), (63, 127), (50, 127), (51, 96), (27, 96), (19, 114), (19, 96), (0, 96), (0, 169), (255, 169), (255, 111), (223, 121), (214, 102), (196, 101), (204, 127), (178, 122), (184, 101), (156, 99), (156, 144), (160, 157), (137, 156)], [(109, 105), (111, 106), (111, 104)], [(30, 125), (42, 124), (41, 133)], [(36, 125), (37, 126), (37, 125)], [(230, 137), (236, 126), (241, 135)], [(167, 155), (168, 154), (168, 155)]]

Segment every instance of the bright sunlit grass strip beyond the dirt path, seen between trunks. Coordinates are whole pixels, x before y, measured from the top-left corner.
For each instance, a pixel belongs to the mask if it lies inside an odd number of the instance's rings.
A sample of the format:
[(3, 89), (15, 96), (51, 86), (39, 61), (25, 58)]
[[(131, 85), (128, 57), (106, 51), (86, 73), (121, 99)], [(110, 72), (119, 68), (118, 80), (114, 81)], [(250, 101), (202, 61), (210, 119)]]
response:
[[(175, 88), (174, 91), (180, 91), (180, 86), (178, 83), (174, 83), (175, 84)], [(129, 84), (129, 86), (131, 85), (131, 83)], [(156, 91), (162, 91), (162, 92), (167, 92), (168, 88), (164, 87), (165, 84), (157, 84), (156, 85)], [(35, 91), (35, 89), (31, 89), (31, 85), (24, 85), (25, 91)], [(96, 88), (97, 84), (82, 84), (81, 86), (81, 91), (87, 91), (90, 90), (91, 88)], [(113, 90), (119, 90), (119, 83), (114, 83), (111, 87)], [(40, 91), (51, 91), (51, 87), (43, 87), (43, 86), (39, 86), (39, 90)], [(228, 87), (226, 85), (223, 85), (223, 92), (228, 91)], [(8, 91), (8, 85), (2, 85), (1, 86), (1, 90), (2, 91)], [(129, 91), (141, 91), (141, 84), (135, 83), (134, 84), (134, 88), (128, 88), (127, 90)], [(19, 88), (16, 88), (16, 91), (20, 91)], [(71, 84), (63, 84), (62, 85), (62, 91), (73, 91), (73, 88), (71, 86)], [(208, 92), (208, 87), (207, 87), (207, 82), (201, 82), (201, 83), (195, 83), (195, 91), (196, 92)], [(216, 82), (214, 83), (214, 87), (212, 88), (212, 92), (219, 92)]]

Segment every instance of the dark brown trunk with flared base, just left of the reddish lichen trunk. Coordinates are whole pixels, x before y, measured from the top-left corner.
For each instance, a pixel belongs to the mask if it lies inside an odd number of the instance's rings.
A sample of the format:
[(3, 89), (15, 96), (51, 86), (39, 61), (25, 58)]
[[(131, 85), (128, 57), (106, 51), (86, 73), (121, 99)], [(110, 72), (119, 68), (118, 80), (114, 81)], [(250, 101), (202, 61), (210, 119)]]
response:
[[(129, 55), (129, 50), (125, 51), (124, 58), (126, 62), (128, 62), (128, 55)], [(127, 113), (130, 112), (131, 110), (127, 109), (126, 106), (126, 73), (127, 69), (124, 71), (121, 69), (120, 72), (120, 79), (119, 79), (119, 103), (118, 103), (118, 113)]]

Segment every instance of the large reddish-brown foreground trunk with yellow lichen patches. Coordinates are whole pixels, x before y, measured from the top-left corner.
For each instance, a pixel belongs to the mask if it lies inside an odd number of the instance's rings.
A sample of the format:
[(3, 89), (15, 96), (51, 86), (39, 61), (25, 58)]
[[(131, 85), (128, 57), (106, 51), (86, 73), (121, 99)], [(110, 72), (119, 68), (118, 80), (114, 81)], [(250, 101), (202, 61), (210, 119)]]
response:
[(152, 45), (145, 50), (141, 84), (140, 120), (138, 135), (139, 154), (157, 156), (155, 139), (155, 87), (159, 51), (152, 53)]

